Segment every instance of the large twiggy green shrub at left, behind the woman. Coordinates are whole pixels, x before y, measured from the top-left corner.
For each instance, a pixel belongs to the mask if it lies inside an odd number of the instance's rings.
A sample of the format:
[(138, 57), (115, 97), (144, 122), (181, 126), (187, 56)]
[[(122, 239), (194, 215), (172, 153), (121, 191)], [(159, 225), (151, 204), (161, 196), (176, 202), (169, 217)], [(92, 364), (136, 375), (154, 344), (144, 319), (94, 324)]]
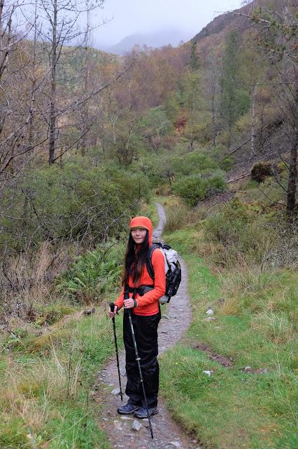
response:
[(16, 250), (38, 248), (45, 240), (94, 248), (107, 236), (117, 236), (136, 211), (138, 199), (149, 194), (146, 175), (92, 167), (87, 158), (69, 159), (63, 168), (28, 170), (26, 175), (0, 200), (7, 215), (0, 217), (0, 243), (10, 241)]

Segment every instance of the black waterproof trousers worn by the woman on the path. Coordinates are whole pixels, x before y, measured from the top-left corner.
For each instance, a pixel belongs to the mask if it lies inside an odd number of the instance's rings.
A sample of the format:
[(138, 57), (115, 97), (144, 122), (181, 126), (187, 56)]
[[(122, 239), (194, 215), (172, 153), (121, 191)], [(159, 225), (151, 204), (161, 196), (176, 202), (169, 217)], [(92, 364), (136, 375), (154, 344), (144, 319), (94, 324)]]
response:
[[(141, 316), (132, 313), (132, 325), (136, 337), (136, 347), (141, 358), (141, 370), (146, 391), (148, 408), (157, 407), (157, 394), (159, 387), (159, 365), (157, 361), (157, 326), (160, 314)], [(126, 353), (127, 385), (125, 393), (129, 403), (145, 407), (143, 388), (141, 386), (139, 368), (136, 363), (136, 353), (132, 340), (132, 330), (129, 325), (129, 316), (125, 311), (123, 317), (123, 338)]]

